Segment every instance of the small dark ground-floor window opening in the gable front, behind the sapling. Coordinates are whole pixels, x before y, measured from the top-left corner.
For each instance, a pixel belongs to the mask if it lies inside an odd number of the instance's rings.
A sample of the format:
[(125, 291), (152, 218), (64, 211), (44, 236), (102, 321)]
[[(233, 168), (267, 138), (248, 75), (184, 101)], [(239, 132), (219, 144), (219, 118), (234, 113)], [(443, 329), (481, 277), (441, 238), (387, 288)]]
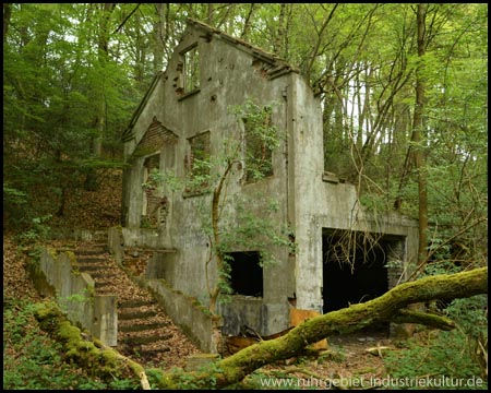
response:
[(260, 252), (230, 252), (226, 260), (230, 266), (230, 287), (236, 295), (263, 296), (263, 267)]

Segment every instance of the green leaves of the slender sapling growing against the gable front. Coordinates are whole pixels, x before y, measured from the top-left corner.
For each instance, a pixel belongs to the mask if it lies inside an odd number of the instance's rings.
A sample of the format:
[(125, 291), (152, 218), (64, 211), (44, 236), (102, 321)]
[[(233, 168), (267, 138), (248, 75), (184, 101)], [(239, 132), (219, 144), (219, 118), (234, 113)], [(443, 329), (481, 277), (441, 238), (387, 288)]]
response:
[[(227, 195), (221, 189), (229, 180), (230, 169), (242, 158), (242, 151), (246, 152), (246, 180), (259, 181), (272, 175), (272, 153), (279, 146), (278, 129), (272, 123), (271, 115), (276, 104), (265, 106), (256, 105), (252, 99), (248, 99), (243, 105), (229, 107), (237, 122), (246, 126), (244, 133), (238, 140), (226, 140), (221, 152), (215, 155), (217, 163), (212, 168), (223, 168), (218, 170), (215, 181), (212, 181), (212, 189), (215, 191), (219, 204), (218, 211), (205, 210), (203, 222), (204, 230), (213, 239), (212, 252), (218, 258), (221, 264), (218, 266), (219, 300), (227, 302), (232, 294), (230, 288), (230, 265), (227, 252), (232, 250), (258, 250), (260, 252), (260, 264), (262, 266), (273, 265), (277, 261), (271, 248), (289, 247), (294, 248), (291, 234), (287, 229), (278, 231), (274, 223), (274, 215), (278, 205), (275, 200), (256, 194), (248, 198), (242, 193)], [(248, 143), (253, 140), (252, 146)], [(258, 145), (259, 142), (259, 145)], [(242, 150), (242, 145), (246, 148)], [(271, 154), (262, 155), (258, 160), (259, 151), (270, 151)], [(267, 162), (267, 163), (266, 163)], [(218, 194), (216, 194), (218, 192)], [(252, 205), (260, 206), (261, 213), (251, 209)], [(213, 223), (218, 223), (215, 227)], [(218, 242), (216, 239), (219, 239)]]

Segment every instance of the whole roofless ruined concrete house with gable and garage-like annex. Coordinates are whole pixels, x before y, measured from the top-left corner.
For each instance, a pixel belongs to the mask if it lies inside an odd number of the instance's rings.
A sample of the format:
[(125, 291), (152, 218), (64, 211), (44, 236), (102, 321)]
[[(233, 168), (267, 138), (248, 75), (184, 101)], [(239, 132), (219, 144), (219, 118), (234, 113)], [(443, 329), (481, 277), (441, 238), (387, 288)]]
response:
[(211, 193), (142, 184), (153, 169), (184, 179), (195, 156), (218, 154), (225, 139), (247, 132), (229, 108), (248, 99), (275, 103), (271, 121), (284, 138), (262, 180), (248, 178), (243, 159), (227, 192), (255, 201), (259, 215), (266, 206), (256, 195), (277, 201), (273, 218), (291, 228), (296, 250), (272, 249), (279, 263), (267, 267), (258, 264), (261, 250), (228, 250), (235, 295), (219, 306), (223, 332), (273, 334), (289, 326), (292, 307), (326, 312), (395, 285), (416, 261), (417, 226), (363, 212), (356, 187), (324, 170), (321, 104), (309, 83), (276, 56), (193, 20), (123, 134), (122, 235), (124, 246), (154, 250), (146, 277), (207, 305), (205, 277), (216, 281), (216, 271), (206, 271), (211, 245), (195, 209), (211, 204)]

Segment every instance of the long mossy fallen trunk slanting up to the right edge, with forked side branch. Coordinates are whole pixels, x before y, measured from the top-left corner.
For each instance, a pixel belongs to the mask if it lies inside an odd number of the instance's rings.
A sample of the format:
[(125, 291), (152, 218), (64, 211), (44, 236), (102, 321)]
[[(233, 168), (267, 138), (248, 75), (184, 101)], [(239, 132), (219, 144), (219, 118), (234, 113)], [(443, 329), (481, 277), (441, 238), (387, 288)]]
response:
[(204, 371), (153, 370), (160, 389), (225, 388), (241, 381), (252, 371), (277, 360), (288, 359), (307, 345), (332, 334), (346, 334), (380, 322), (423, 323), (440, 329), (454, 327), (451, 320), (405, 310), (408, 305), (429, 300), (452, 300), (488, 293), (488, 267), (452, 275), (426, 277), (400, 284), (381, 297), (351, 305), (338, 311), (315, 317), (292, 329), (286, 335), (261, 341), (225, 358)]

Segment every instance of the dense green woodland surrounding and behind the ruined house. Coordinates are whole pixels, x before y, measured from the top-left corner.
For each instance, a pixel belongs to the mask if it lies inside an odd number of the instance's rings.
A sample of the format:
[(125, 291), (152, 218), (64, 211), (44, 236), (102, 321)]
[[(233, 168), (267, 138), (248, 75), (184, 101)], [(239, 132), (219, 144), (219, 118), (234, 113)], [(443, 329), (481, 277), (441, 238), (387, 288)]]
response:
[[(469, 3), (4, 3), (3, 225), (15, 241), (119, 224), (118, 206), (73, 221), (69, 201), (120, 174), (120, 135), (188, 17), (309, 81), (325, 170), (373, 214), (418, 219), (412, 278), (487, 265), (488, 5)], [(463, 317), (470, 329), (482, 299), (468, 301), (452, 312), (477, 310)], [(484, 343), (460, 331), (446, 340)]]

